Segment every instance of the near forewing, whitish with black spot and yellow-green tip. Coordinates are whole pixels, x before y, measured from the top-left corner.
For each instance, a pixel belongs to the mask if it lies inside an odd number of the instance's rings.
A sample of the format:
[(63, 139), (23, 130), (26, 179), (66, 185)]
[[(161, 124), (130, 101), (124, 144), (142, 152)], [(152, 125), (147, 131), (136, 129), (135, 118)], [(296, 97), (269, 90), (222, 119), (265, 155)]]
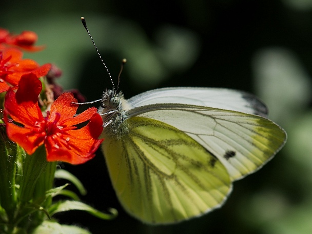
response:
[(232, 181), (255, 172), (286, 142), (286, 132), (274, 122), (232, 110), (184, 104), (152, 104), (129, 111), (167, 123), (185, 132), (226, 167)]

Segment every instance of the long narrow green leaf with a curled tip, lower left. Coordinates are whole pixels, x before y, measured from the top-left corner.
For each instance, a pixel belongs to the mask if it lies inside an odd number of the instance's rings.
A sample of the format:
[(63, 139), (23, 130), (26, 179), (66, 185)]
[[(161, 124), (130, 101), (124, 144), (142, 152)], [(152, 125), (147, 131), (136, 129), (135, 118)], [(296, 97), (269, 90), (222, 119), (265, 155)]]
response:
[(87, 211), (88, 213), (92, 214), (93, 216), (104, 219), (104, 220), (111, 220), (114, 219), (118, 212), (116, 209), (109, 208), (110, 213), (103, 213), (99, 210), (94, 209), (93, 207), (79, 202), (79, 201), (60, 201), (55, 204), (53, 204), (49, 208), (49, 213), (51, 216), (55, 213), (63, 212), (63, 211), (69, 211), (69, 210), (83, 210)]

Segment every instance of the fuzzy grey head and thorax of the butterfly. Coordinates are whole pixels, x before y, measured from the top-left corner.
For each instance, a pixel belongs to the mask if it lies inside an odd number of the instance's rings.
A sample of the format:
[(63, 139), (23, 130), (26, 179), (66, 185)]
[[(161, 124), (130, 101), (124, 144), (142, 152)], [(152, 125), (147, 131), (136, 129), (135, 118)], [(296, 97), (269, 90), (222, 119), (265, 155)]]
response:
[(129, 132), (128, 124), (125, 120), (127, 101), (124, 99), (122, 92), (116, 93), (113, 89), (106, 89), (103, 92), (100, 108), (98, 112), (103, 119), (103, 136), (122, 139), (124, 134)]

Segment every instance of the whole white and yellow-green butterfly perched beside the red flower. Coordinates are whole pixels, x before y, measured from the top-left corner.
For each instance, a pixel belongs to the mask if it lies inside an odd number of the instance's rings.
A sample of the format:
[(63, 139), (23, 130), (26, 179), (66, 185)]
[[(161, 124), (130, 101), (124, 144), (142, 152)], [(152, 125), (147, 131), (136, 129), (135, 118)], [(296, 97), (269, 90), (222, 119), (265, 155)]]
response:
[(162, 88), (126, 100), (113, 88), (97, 101), (116, 195), (149, 224), (220, 207), (232, 183), (260, 169), (287, 138), (256, 96), (237, 90)]

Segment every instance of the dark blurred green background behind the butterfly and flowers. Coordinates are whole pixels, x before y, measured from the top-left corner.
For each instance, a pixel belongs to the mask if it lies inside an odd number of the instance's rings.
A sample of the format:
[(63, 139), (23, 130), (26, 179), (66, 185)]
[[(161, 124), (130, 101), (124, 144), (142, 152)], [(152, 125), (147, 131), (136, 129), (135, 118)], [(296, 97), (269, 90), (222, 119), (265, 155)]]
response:
[[(33, 30), (47, 48), (24, 57), (63, 70), (59, 83), (79, 88), (89, 101), (111, 88), (80, 17), (115, 79), (128, 63), (120, 89), (129, 98), (172, 86), (227, 87), (257, 94), (288, 142), (260, 171), (235, 182), (225, 205), (169, 226), (148, 226), (128, 216), (111, 187), (105, 161), (61, 165), (88, 190), (83, 201), (102, 211), (64, 212), (62, 223), (92, 233), (312, 233), (312, 1), (3, 1), (0, 27)], [(73, 190), (75, 188), (72, 188)]]

